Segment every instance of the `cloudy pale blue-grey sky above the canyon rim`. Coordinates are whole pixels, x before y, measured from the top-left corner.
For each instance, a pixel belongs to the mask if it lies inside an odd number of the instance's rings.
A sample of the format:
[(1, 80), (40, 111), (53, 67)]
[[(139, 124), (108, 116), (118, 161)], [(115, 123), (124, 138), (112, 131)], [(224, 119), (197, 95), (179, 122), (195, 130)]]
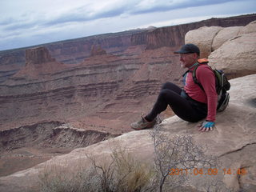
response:
[(0, 0), (0, 50), (256, 13), (256, 0)]

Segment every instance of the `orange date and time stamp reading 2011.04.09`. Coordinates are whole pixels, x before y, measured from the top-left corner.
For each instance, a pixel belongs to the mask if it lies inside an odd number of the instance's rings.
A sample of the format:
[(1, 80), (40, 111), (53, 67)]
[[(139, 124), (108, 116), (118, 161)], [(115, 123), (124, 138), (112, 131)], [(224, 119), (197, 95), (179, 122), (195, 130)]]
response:
[(247, 174), (246, 168), (238, 168), (236, 170), (230, 169), (230, 168), (209, 168), (209, 169), (203, 169), (203, 168), (193, 168), (193, 169), (178, 169), (178, 168), (172, 168), (170, 169), (169, 175), (175, 176), (175, 175), (194, 175), (194, 176), (214, 176), (217, 174), (224, 174), (224, 175), (245, 175)]

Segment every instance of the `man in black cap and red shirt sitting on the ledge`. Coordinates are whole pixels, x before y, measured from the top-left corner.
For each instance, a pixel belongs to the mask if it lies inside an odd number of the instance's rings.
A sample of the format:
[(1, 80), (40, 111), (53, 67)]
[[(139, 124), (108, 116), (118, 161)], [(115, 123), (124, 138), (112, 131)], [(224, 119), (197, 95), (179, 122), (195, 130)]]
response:
[(200, 50), (194, 44), (186, 44), (174, 54), (180, 54), (183, 68), (189, 72), (184, 76), (185, 86), (183, 90), (171, 82), (166, 82), (158, 95), (158, 99), (149, 114), (138, 122), (131, 123), (134, 130), (151, 128), (157, 122), (158, 114), (166, 110), (169, 105), (179, 118), (187, 122), (198, 122), (206, 118), (199, 126), (199, 131), (209, 131), (214, 127), (218, 95), (215, 90), (214, 72), (208, 65), (200, 65), (196, 70), (198, 82), (203, 90), (194, 83), (192, 71), (202, 61), (199, 58)]

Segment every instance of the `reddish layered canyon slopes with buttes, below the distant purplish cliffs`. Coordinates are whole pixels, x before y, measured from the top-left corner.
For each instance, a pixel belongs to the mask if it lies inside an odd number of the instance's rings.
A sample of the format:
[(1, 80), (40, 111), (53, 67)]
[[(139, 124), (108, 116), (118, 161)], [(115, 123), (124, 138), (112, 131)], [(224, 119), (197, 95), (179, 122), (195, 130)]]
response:
[[(127, 53), (139, 47), (130, 47)], [(79, 120), (77, 125), (84, 129), (126, 132), (130, 127), (124, 122), (143, 111), (134, 110), (138, 103), (150, 102), (167, 79), (179, 83), (182, 69), (174, 64), (178, 58), (170, 54), (173, 51), (163, 47), (120, 57), (96, 47), (81, 64), (67, 66), (55, 61), (45, 47), (27, 50), (26, 66), (0, 86), (1, 129), (39, 119)]]

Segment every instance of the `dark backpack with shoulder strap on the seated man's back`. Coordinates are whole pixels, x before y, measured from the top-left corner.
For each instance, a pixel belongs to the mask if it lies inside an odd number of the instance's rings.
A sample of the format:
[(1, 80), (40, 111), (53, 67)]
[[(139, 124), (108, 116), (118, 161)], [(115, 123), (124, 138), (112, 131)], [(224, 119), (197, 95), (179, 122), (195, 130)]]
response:
[[(200, 82), (198, 82), (198, 79), (196, 78), (196, 70), (198, 69), (198, 66), (201, 64), (207, 65), (208, 60), (207, 59), (199, 59), (198, 65), (194, 68), (192, 72), (193, 81), (195, 84), (200, 86), (200, 88), (203, 90), (203, 87)], [(213, 70), (210, 67), (211, 70)], [(222, 70), (213, 70), (215, 75), (215, 88), (216, 92), (218, 94), (218, 105), (217, 105), (217, 111), (223, 111), (226, 109), (226, 106), (228, 106), (230, 101), (230, 94), (226, 92), (227, 90), (230, 90), (230, 82), (227, 80), (226, 75)], [(203, 90), (204, 91), (204, 90)]]

